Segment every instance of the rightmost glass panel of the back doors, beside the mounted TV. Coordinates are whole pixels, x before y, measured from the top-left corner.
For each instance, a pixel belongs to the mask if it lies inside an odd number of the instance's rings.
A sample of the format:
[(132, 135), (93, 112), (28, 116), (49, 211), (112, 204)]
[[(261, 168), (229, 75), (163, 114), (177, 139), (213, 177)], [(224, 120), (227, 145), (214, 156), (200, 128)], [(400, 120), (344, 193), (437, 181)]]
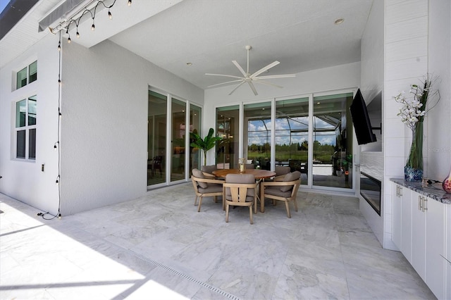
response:
[(313, 185), (352, 189), (352, 93), (314, 97)]

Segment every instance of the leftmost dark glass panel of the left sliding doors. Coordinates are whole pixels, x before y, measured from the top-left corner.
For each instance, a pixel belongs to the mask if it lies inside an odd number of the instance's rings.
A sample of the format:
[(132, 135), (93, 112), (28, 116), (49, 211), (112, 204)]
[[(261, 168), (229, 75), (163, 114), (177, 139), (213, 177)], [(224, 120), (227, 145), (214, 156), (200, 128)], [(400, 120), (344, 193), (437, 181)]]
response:
[(147, 185), (166, 182), (167, 98), (149, 91), (147, 118)]

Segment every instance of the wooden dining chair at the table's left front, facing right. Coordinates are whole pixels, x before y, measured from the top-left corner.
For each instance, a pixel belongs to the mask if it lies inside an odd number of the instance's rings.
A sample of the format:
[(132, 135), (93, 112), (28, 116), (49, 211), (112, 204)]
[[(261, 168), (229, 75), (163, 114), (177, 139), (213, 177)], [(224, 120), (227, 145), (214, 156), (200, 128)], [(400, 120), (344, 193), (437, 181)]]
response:
[(196, 193), (194, 205), (197, 204), (197, 199), (199, 198), (198, 212), (200, 211), (200, 206), (202, 206), (203, 197), (213, 196), (216, 203), (218, 196), (223, 196), (223, 180), (207, 178), (201, 170), (194, 168), (192, 169), (191, 181)]

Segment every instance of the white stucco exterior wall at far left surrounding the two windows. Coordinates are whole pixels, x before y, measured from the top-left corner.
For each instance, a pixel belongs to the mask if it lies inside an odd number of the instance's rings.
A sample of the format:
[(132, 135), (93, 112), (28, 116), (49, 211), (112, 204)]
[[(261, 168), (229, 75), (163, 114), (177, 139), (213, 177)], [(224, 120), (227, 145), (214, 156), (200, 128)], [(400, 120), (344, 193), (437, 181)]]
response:
[[(58, 139), (57, 45), (49, 34), (0, 70), (0, 192), (53, 214), (58, 212), (58, 152), (54, 151)], [(15, 73), (36, 60), (37, 81), (15, 90)], [(35, 94), (36, 160), (19, 160), (13, 138), (15, 103)]]

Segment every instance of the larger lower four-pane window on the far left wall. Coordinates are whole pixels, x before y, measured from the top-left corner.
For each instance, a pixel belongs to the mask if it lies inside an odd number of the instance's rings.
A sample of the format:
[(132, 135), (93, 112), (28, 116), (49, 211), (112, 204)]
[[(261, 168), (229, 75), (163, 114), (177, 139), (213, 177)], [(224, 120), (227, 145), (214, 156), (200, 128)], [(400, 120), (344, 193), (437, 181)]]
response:
[(16, 158), (36, 159), (37, 96), (16, 102)]

